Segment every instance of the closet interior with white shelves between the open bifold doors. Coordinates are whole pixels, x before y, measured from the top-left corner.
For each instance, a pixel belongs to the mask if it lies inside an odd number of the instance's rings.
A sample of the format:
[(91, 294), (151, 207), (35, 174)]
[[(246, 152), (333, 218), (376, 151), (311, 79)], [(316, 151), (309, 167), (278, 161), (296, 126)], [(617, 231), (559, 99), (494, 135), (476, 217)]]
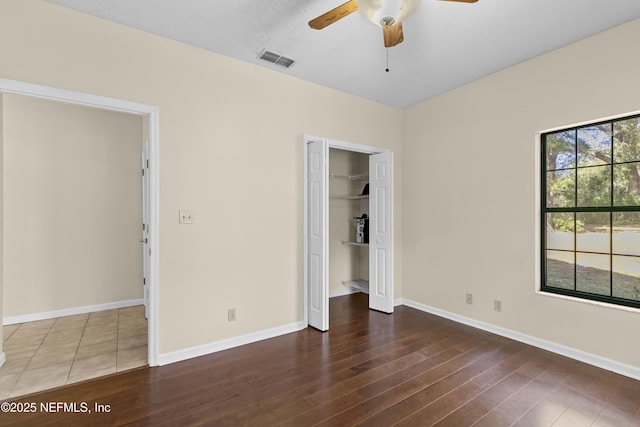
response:
[(368, 182), (369, 155), (329, 149), (330, 297), (369, 293)]

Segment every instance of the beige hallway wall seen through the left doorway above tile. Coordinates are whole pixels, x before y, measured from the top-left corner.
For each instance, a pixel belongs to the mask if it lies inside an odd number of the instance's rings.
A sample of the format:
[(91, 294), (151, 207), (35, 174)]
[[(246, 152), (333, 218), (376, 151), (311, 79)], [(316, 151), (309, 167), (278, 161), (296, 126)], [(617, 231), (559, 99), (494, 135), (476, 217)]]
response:
[(142, 298), (142, 117), (4, 95), (4, 316)]

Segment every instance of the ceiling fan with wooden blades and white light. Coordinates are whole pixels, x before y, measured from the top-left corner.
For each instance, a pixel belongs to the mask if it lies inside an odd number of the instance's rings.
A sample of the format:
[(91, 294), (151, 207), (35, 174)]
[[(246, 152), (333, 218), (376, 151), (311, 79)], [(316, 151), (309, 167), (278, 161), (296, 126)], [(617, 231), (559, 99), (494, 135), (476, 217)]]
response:
[[(475, 3), (478, 0), (442, 1)], [(312, 19), (309, 21), (309, 26), (315, 30), (321, 30), (357, 10), (367, 20), (382, 27), (385, 47), (393, 47), (404, 40), (402, 21), (416, 11), (419, 2), (420, 0), (349, 0)]]

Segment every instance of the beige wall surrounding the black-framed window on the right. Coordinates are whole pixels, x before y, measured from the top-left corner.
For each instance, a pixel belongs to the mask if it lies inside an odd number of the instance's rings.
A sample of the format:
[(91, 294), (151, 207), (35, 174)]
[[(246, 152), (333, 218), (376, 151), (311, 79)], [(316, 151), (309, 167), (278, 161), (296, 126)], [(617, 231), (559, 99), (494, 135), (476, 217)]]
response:
[(640, 366), (637, 310), (535, 293), (536, 132), (640, 109), (639, 38), (636, 20), (405, 111), (405, 298)]

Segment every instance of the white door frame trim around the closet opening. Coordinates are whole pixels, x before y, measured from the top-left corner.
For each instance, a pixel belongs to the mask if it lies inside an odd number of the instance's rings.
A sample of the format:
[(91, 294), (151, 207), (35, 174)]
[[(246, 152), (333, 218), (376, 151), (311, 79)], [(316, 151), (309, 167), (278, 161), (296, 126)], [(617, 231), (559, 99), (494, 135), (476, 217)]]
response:
[[(307, 146), (310, 142), (314, 141), (326, 141), (328, 148), (337, 148), (340, 150), (352, 151), (356, 153), (363, 154), (378, 154), (378, 153), (391, 153), (391, 150), (386, 148), (374, 147), (371, 145), (363, 145), (356, 144), (352, 142), (340, 141), (335, 139), (323, 138), (313, 135), (304, 134), (302, 138), (302, 165), (303, 165), (303, 183), (302, 183), (302, 313), (303, 313), (303, 322), (304, 324), (309, 324), (309, 265), (308, 265), (308, 256), (309, 256), (309, 239), (308, 239), (308, 231), (309, 231), (309, 195), (308, 195), (308, 150)], [(327, 172), (328, 173), (328, 172)], [(329, 203), (328, 197), (329, 194), (327, 192), (327, 204)], [(391, 211), (393, 212), (393, 207), (391, 207)], [(391, 219), (391, 223), (393, 223), (393, 219)], [(325, 233), (328, 233), (328, 229), (325, 230)], [(391, 234), (393, 236), (393, 234)], [(327, 236), (328, 239), (328, 236)], [(393, 237), (391, 241), (391, 246), (393, 246)], [(393, 266), (393, 260), (391, 261), (391, 265)], [(328, 277), (327, 277), (328, 280)], [(394, 285), (393, 285), (393, 269), (391, 270), (391, 295), (393, 295)], [(393, 299), (393, 296), (391, 297)], [(328, 297), (327, 297), (328, 299)], [(393, 308), (392, 308), (393, 309)]]

